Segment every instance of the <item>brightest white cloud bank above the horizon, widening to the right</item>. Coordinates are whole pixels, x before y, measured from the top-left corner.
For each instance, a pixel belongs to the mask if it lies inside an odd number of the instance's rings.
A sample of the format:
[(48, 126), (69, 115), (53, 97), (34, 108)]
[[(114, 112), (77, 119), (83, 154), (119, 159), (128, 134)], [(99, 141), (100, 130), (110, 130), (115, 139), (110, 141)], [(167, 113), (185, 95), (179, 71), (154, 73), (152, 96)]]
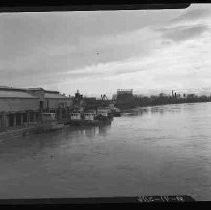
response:
[[(89, 89), (99, 94), (106, 90), (115, 92), (117, 88), (133, 88), (140, 93), (153, 89), (170, 92), (172, 89), (211, 88), (211, 50), (207, 45), (210, 42), (210, 32), (207, 31), (194, 39), (157, 48), (150, 56), (137, 55), (121, 62), (78, 70), (81, 75), (86, 74), (86, 79), (80, 79), (79, 75), (79, 79), (77, 76), (72, 78), (69, 72), (60, 87), (65, 90), (79, 88), (85, 92)], [(91, 84), (96, 85), (91, 87)]]

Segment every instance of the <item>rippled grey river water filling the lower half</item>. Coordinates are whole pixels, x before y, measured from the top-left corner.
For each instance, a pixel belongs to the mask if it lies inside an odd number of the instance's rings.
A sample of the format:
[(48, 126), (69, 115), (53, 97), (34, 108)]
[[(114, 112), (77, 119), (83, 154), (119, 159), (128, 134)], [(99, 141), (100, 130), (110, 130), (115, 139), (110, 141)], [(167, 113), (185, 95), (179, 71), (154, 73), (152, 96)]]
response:
[(0, 198), (211, 199), (211, 103), (139, 108), (111, 126), (0, 143)]

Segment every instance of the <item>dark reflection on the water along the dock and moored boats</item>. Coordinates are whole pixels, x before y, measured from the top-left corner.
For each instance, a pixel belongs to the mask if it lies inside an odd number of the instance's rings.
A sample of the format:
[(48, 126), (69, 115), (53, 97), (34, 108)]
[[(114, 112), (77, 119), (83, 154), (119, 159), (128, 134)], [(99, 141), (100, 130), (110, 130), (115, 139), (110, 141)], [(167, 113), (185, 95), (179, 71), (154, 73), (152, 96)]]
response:
[(84, 138), (93, 139), (96, 136), (106, 136), (111, 125), (100, 127), (66, 127), (60, 131), (52, 131), (48, 133), (25, 136), (22, 138), (14, 138), (9, 141), (0, 142), (0, 158), (10, 157), (16, 159), (18, 153), (20, 157), (36, 155), (45, 152), (46, 149), (56, 149), (66, 142), (84, 142)]

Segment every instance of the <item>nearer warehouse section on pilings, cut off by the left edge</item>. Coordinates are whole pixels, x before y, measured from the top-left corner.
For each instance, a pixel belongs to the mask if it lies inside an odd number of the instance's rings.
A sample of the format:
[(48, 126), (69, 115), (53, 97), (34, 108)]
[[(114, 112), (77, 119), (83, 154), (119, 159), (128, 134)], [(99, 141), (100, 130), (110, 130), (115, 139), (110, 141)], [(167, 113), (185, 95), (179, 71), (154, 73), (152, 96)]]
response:
[(0, 130), (39, 120), (39, 98), (21, 88), (0, 87)]

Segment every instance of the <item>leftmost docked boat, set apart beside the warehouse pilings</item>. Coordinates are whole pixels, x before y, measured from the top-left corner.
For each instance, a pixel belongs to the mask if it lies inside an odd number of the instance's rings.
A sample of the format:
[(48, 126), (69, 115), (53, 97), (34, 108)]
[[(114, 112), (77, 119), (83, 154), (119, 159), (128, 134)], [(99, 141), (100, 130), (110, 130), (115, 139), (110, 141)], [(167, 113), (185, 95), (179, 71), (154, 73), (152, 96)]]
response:
[(62, 129), (63, 123), (58, 123), (56, 120), (55, 113), (42, 113), (41, 122), (37, 125), (38, 132), (46, 132)]

